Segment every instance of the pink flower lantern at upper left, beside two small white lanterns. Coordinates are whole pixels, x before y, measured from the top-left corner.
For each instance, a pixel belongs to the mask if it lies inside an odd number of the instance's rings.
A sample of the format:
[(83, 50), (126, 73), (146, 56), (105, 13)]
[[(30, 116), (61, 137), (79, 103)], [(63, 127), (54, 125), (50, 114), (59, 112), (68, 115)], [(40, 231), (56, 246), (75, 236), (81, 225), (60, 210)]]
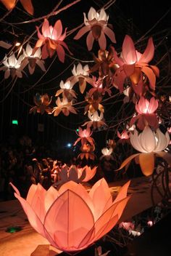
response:
[(36, 48), (43, 46), (41, 52), (42, 59), (52, 57), (54, 52), (57, 51), (59, 60), (64, 63), (64, 48), (67, 49), (68, 52), (70, 52), (70, 50), (68, 49), (67, 44), (64, 42), (67, 28), (65, 28), (65, 31), (62, 34), (61, 20), (57, 20), (57, 22), (54, 24), (54, 27), (52, 27), (49, 25), (49, 21), (44, 19), (41, 29), (42, 34), (40, 33), (39, 28), (36, 28), (38, 31), (38, 41), (36, 42)]

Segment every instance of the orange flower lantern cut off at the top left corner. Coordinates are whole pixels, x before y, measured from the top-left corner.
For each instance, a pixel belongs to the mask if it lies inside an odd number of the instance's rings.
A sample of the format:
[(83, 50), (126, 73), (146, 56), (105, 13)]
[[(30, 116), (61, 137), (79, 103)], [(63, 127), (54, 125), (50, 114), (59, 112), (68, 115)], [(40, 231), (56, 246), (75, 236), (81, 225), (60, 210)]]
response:
[[(16, 0), (1, 0), (1, 2), (8, 10), (13, 9), (17, 4)], [(34, 9), (31, 0), (20, 0), (20, 3), (26, 12), (28, 12), (30, 15), (33, 15)]]

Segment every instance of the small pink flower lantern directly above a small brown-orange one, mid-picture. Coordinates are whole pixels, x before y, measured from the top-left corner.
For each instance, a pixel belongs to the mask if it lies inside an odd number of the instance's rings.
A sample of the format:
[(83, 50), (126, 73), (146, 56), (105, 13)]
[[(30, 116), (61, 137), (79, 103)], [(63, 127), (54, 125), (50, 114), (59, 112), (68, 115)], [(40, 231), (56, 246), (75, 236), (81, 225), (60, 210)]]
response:
[(91, 137), (93, 132), (91, 132), (90, 128), (82, 129), (79, 127), (79, 131), (76, 132), (76, 134), (79, 136), (77, 140), (75, 140), (74, 145), (76, 145), (79, 141), (81, 142), (81, 145), (84, 145), (85, 143), (90, 143), (91, 145), (94, 145), (94, 140)]

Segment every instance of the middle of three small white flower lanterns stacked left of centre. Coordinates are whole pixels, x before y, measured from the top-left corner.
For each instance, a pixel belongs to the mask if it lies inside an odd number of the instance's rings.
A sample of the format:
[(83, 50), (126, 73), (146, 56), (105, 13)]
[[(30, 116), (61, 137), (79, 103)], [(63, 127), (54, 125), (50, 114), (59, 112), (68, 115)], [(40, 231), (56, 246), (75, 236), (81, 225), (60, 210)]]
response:
[(57, 90), (56, 97), (59, 96), (60, 94), (63, 95), (63, 97), (67, 97), (67, 100), (72, 100), (73, 97), (77, 97), (75, 95), (75, 91), (72, 89), (74, 84), (71, 83), (71, 81), (60, 81), (59, 87), (61, 89)]

